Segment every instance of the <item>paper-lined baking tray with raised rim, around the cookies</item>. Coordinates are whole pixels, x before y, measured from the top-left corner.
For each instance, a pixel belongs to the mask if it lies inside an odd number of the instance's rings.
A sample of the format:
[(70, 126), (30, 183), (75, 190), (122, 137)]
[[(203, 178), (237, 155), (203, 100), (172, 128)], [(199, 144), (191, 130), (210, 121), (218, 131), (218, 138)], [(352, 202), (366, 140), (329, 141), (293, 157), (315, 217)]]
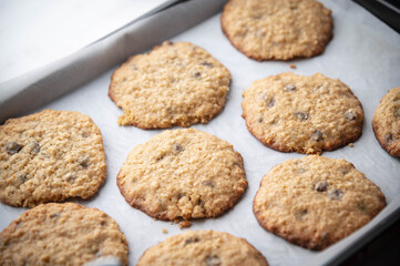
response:
[[(371, 129), (380, 99), (389, 89), (400, 85), (400, 35), (353, 2), (321, 1), (332, 10), (335, 20), (334, 39), (324, 54), (290, 62), (256, 62), (239, 53), (223, 35), (220, 13), (217, 12), (224, 2), (192, 0), (180, 3), (127, 25), (59, 62), (1, 83), (0, 120), (43, 109), (79, 111), (93, 119), (104, 140), (107, 178), (93, 198), (76, 202), (104, 211), (120, 224), (130, 245), (130, 265), (135, 265), (146, 248), (185, 229), (180, 229), (177, 224), (154, 221), (132, 208), (116, 186), (116, 174), (127, 153), (162, 131), (116, 124), (122, 111), (107, 98), (110, 78), (116, 65), (129, 55), (144, 52), (163, 40), (172, 38), (172, 41), (195, 43), (227, 66), (233, 81), (223, 112), (208, 124), (193, 127), (234, 145), (244, 157), (249, 186), (232, 211), (215, 219), (194, 221), (187, 229), (214, 229), (245, 237), (273, 266), (337, 265), (400, 215), (400, 161), (379, 146)], [(184, 32), (177, 34), (181, 31)], [(290, 69), (290, 63), (297, 69)], [(322, 252), (307, 250), (270, 234), (258, 225), (252, 212), (253, 198), (263, 175), (277, 163), (304, 155), (270, 150), (247, 131), (240, 117), (242, 92), (254, 80), (288, 71), (305, 75), (321, 72), (338, 78), (359, 98), (365, 111), (362, 136), (353, 147), (345, 146), (322, 155), (353, 163), (381, 187), (388, 203), (372, 222)], [(24, 211), (0, 204), (0, 229)], [(163, 228), (167, 234), (163, 233)]]

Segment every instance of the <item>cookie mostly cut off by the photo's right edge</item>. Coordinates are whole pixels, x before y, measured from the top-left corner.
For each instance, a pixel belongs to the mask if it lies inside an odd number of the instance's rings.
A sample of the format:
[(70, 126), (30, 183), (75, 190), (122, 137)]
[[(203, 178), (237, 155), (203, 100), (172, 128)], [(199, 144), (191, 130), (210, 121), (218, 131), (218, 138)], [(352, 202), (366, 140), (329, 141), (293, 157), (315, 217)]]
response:
[(380, 101), (372, 129), (380, 145), (390, 155), (400, 157), (400, 86), (390, 90)]

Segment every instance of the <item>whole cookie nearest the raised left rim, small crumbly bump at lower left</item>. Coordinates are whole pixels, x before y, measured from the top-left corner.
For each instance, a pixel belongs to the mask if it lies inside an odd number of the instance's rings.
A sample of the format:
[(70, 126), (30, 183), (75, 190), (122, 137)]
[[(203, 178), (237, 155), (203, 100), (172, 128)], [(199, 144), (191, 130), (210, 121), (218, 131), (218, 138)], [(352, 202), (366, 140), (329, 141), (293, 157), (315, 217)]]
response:
[(222, 111), (229, 82), (229, 71), (202, 48), (164, 42), (115, 70), (109, 96), (124, 112), (120, 125), (189, 126)]

